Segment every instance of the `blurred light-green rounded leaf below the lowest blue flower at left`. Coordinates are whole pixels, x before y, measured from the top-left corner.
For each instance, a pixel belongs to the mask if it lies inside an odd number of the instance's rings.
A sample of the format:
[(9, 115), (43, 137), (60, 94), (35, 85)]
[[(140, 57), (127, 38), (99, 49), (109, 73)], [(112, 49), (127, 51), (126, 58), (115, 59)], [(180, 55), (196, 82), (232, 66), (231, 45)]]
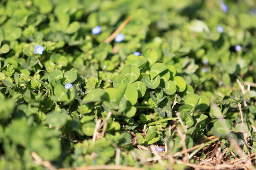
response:
[(68, 117), (65, 112), (52, 111), (47, 115), (46, 123), (49, 126), (61, 128), (66, 124), (67, 119)]

